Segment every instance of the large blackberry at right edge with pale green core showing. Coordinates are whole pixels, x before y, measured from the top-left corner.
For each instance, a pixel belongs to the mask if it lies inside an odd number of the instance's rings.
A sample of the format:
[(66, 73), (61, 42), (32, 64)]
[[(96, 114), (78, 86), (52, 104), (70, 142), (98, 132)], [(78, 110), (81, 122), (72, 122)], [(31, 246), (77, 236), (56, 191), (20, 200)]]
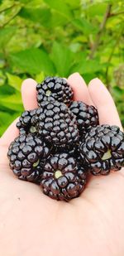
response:
[(124, 166), (124, 133), (117, 126), (98, 125), (86, 135), (80, 153), (93, 175), (120, 170)]

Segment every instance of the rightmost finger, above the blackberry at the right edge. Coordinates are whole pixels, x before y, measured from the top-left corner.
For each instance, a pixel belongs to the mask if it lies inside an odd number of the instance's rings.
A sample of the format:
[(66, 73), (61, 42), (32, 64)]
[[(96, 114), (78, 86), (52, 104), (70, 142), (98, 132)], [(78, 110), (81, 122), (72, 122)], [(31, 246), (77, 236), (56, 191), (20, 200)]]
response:
[(89, 94), (98, 108), (100, 124), (117, 125), (122, 129), (122, 123), (117, 113), (116, 105), (105, 85), (98, 78), (90, 81)]

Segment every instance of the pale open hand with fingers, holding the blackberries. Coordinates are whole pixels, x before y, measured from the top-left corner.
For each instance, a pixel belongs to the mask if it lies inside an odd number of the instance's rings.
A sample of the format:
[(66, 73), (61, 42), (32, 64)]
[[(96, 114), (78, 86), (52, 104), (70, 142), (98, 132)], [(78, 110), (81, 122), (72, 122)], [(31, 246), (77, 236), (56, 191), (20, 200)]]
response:
[[(103, 83), (69, 76), (74, 99), (98, 108), (100, 123), (122, 129), (117, 109)], [(36, 108), (36, 81), (21, 89), (25, 109)], [(92, 176), (79, 198), (51, 200), (40, 186), (19, 181), (8, 167), (7, 147), (18, 136), (17, 120), (0, 140), (0, 255), (123, 256), (124, 170)]]

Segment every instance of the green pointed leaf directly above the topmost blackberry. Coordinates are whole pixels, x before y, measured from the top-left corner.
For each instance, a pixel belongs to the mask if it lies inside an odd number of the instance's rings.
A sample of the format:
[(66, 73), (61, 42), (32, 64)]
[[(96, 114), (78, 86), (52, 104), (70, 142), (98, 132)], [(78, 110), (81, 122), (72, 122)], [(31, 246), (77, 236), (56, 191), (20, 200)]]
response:
[(51, 59), (55, 64), (58, 75), (67, 76), (69, 75), (69, 70), (73, 65), (73, 52), (71, 52), (67, 47), (61, 45), (58, 42), (54, 42), (52, 47)]

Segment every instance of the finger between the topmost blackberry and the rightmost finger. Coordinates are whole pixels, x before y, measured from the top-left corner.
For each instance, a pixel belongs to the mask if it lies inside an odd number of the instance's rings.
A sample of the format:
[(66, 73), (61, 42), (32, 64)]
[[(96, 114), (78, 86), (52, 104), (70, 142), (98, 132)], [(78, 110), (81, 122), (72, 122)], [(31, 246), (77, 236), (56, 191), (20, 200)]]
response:
[(68, 82), (74, 91), (74, 100), (80, 100), (85, 104), (93, 105), (93, 101), (88, 93), (88, 87), (79, 73), (69, 75)]

